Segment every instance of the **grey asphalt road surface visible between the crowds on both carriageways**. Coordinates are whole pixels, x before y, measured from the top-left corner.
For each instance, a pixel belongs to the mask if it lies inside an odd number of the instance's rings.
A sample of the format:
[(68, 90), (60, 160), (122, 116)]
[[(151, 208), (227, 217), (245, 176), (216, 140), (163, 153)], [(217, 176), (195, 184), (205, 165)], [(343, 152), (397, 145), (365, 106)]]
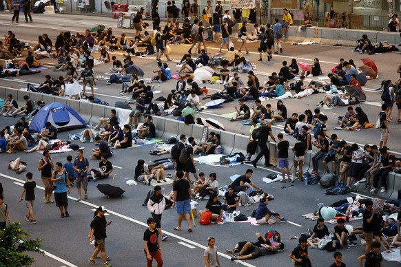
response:
[[(92, 26), (99, 23), (104, 24), (106, 27), (112, 26), (116, 28), (116, 20), (109, 18), (99, 17), (88, 17), (88, 16), (77, 16), (77, 15), (45, 15), (45, 14), (34, 14), (34, 23), (19, 23), (19, 25), (11, 23), (11, 14), (1, 13), (0, 14), (0, 25), (1, 34), (6, 34), (6, 30), (12, 30), (18, 39), (28, 41), (32, 44), (37, 40), (39, 34), (48, 33), (52, 40), (55, 40), (57, 34), (60, 31), (70, 30), (70, 32), (84, 32), (86, 28), (92, 28)], [(132, 30), (121, 30), (115, 29), (114, 34), (119, 35), (121, 32), (127, 32), (127, 35), (134, 36)], [(236, 40), (234, 40), (236, 45)], [(207, 43), (210, 47), (209, 52), (214, 54), (218, 50), (218, 44)], [(280, 69), (281, 61), (291, 61), (291, 58), (297, 58), (298, 61), (305, 61), (311, 63), (313, 58), (320, 58), (322, 69), (327, 74), (331, 67), (338, 63), (340, 57), (344, 57), (346, 60), (353, 58), (358, 65), (359, 59), (364, 58), (356, 53), (351, 52), (350, 47), (331, 47), (322, 45), (291, 45), (291, 43), (284, 43), (284, 52), (278, 56), (274, 55), (274, 60), (269, 63), (259, 63), (258, 54), (256, 51), (256, 43), (249, 44), (249, 50), (251, 55), (249, 58), (251, 62), (256, 63), (257, 70), (256, 74), (260, 77), (260, 81), (267, 80), (267, 75), (271, 72), (277, 72)], [(188, 45), (172, 46), (171, 57), (174, 59), (174, 63), (169, 63), (172, 68), (172, 72), (178, 70), (175, 63), (181, 59), (183, 53), (187, 50)], [(26, 52), (24, 52), (25, 56)], [(119, 59), (122, 60), (122, 52), (112, 52), (111, 54), (118, 55)], [(376, 92), (372, 92), (372, 89), (380, 85), (382, 79), (395, 79), (398, 78), (395, 73), (396, 67), (399, 62), (398, 54), (388, 53), (382, 55), (371, 56), (375, 59), (376, 64), (379, 68), (380, 78), (369, 81), (364, 87), (364, 92), (367, 94), (367, 103), (362, 103), (360, 106), (368, 114), (371, 122), (375, 122), (380, 110), (380, 95)], [(95, 56), (96, 58), (96, 56)], [(41, 83), (44, 81), (45, 74), (50, 74), (54, 77), (61, 75), (61, 73), (52, 72), (52, 64), (55, 60), (44, 59), (41, 61), (44, 65), (50, 66), (49, 70), (43, 71), (41, 74), (32, 76), (21, 76), (17, 78), (0, 79), (0, 86), (21, 88), (26, 87), (26, 83)], [(141, 66), (145, 71), (147, 78), (152, 77), (152, 70), (156, 69), (156, 63), (154, 57), (146, 58), (134, 58), (134, 63)], [(107, 65), (98, 65), (95, 67), (96, 75), (107, 76), (108, 68), (110, 63)], [(245, 74), (240, 74), (245, 79)], [(246, 81), (246, 80), (245, 80)], [(327, 81), (327, 80), (326, 80)], [(156, 85), (157, 86), (157, 85)], [(114, 103), (116, 100), (126, 100), (127, 96), (119, 96), (120, 85), (106, 85), (106, 81), (99, 81), (97, 83), (98, 90), (95, 91), (96, 96), (102, 100), (107, 100), (110, 103)], [(222, 89), (221, 85), (207, 85), (211, 92), (217, 92)], [(162, 95), (166, 96), (171, 89), (175, 88), (175, 81), (168, 81), (161, 84)], [(157, 97), (158, 95), (156, 95)], [(322, 98), (323, 94), (313, 95), (308, 98), (302, 98), (300, 100), (289, 99), (285, 100), (289, 114), (292, 112), (302, 113), (305, 109), (312, 109)], [(201, 101), (202, 104), (207, 100)], [(274, 107), (276, 106), (276, 100), (269, 100)], [(265, 103), (264, 103), (265, 104)], [(227, 114), (234, 111), (233, 103), (223, 105), (219, 109), (212, 111), (203, 111), (199, 113), (199, 116), (204, 118), (216, 118), (225, 124), (225, 127), (229, 131), (237, 133), (245, 133), (249, 131), (249, 127), (242, 125), (241, 122), (229, 122)], [(329, 116), (329, 134), (334, 131), (331, 130), (336, 127), (336, 118), (340, 116), (345, 109), (336, 108), (323, 110), (327, 116)], [(396, 118), (393, 113), (393, 118)], [(0, 118), (1, 125), (13, 125), (17, 119), (14, 118)], [(276, 135), (279, 131), (282, 131), (283, 124), (276, 124), (274, 127), (274, 134)], [(389, 147), (394, 151), (400, 151), (399, 137), (400, 130), (394, 120), (390, 123), (391, 138), (389, 140)], [(68, 133), (77, 133), (79, 131), (64, 132), (59, 136), (60, 138), (66, 139)], [(341, 139), (347, 139), (351, 142), (359, 142), (362, 145), (364, 143), (377, 144), (379, 133), (375, 129), (362, 130), (358, 132), (346, 132), (336, 131)], [(75, 141), (76, 142), (76, 141)], [(93, 144), (87, 143), (85, 147), (85, 156), (89, 158), (90, 151), (94, 147)], [(39, 171), (37, 171), (37, 162), (41, 158), (39, 153), (14, 153), (14, 154), (3, 154), (0, 155), (3, 160), (0, 168), (0, 181), (5, 189), (5, 202), (9, 205), (10, 214), (12, 221), (21, 221), (23, 228), (27, 229), (32, 237), (42, 237), (43, 250), (54, 257), (39, 255), (35, 256), (37, 263), (34, 266), (90, 266), (88, 258), (92, 254), (92, 246), (88, 242), (88, 231), (90, 220), (92, 219), (93, 211), (99, 205), (104, 205), (109, 211), (107, 214), (107, 221), (112, 221), (110, 227), (107, 228), (107, 255), (110, 256), (112, 261), (110, 262), (113, 266), (144, 266), (145, 255), (143, 253), (143, 231), (145, 231), (145, 220), (150, 216), (147, 209), (141, 206), (147, 191), (151, 189), (150, 186), (138, 184), (137, 186), (127, 186), (126, 180), (132, 179), (134, 175), (134, 166), (138, 159), (142, 158), (145, 162), (150, 162), (156, 159), (156, 156), (150, 156), (149, 150), (152, 147), (144, 146), (134, 149), (127, 149), (125, 151), (115, 151), (114, 156), (110, 161), (114, 164), (114, 173), (118, 174), (118, 178), (114, 182), (114, 185), (121, 186), (126, 192), (123, 197), (119, 198), (107, 198), (96, 189), (97, 183), (110, 183), (111, 180), (90, 182), (89, 185), (89, 199), (87, 201), (75, 202), (76, 199), (76, 188), (72, 188), (72, 193), (69, 199), (69, 211), (71, 217), (61, 219), (59, 210), (56, 209), (54, 204), (44, 204), (42, 200), (43, 189), (39, 179)], [(54, 162), (60, 161), (65, 162), (67, 155), (73, 155), (71, 153), (59, 153), (52, 155)], [(13, 171), (10, 171), (6, 167), (6, 162), (21, 156), (21, 158), (28, 162), (27, 171), (34, 173), (34, 180), (37, 181), (38, 188), (36, 189), (37, 200), (34, 204), (34, 213), (37, 216), (38, 224), (30, 225), (23, 220), (25, 214), (25, 205), (18, 202), (19, 195), (22, 190), (21, 184), (25, 180), (24, 173), (17, 175)], [(90, 160), (92, 167), (97, 167), (97, 160)], [(217, 173), (217, 178), (220, 186), (229, 184), (229, 176), (234, 174), (243, 174), (245, 170), (251, 166), (239, 165), (230, 168), (211, 167), (209, 165), (198, 165), (196, 168), (198, 171), (203, 171), (208, 175), (214, 171)], [(170, 171), (171, 172), (171, 171)], [(295, 182), (294, 186), (282, 189), (282, 184), (264, 184), (262, 178), (273, 172), (271, 169), (258, 168), (254, 169), (254, 175), (252, 176), (253, 182), (259, 184), (265, 192), (271, 193), (276, 197), (276, 200), (269, 204), (269, 207), (274, 211), (278, 211), (281, 215), (287, 217), (289, 222), (276, 223), (273, 225), (265, 226), (253, 226), (249, 223), (226, 223), (224, 225), (209, 225), (201, 226), (196, 225), (193, 233), (186, 231), (185, 224), (183, 224), (183, 231), (173, 231), (176, 226), (176, 213), (174, 209), (169, 209), (163, 213), (162, 226), (163, 231), (168, 235), (168, 239), (165, 242), (161, 242), (163, 248), (163, 260), (165, 266), (203, 266), (203, 250), (207, 246), (206, 239), (209, 235), (216, 237), (216, 246), (220, 252), (220, 262), (222, 266), (233, 266), (234, 263), (229, 260), (230, 255), (225, 255), (224, 250), (226, 248), (233, 248), (236, 242), (255, 239), (255, 233), (262, 233), (276, 229), (282, 235), (283, 242), (285, 243), (285, 250), (277, 255), (260, 257), (258, 259), (240, 262), (245, 266), (291, 266), (289, 259), (289, 253), (298, 244), (298, 240), (290, 239), (291, 237), (299, 237), (301, 233), (307, 232), (308, 228), (313, 228), (315, 222), (303, 219), (302, 215), (311, 213), (317, 209), (317, 204), (322, 202), (325, 204), (331, 204), (337, 200), (343, 199), (350, 195), (341, 196), (325, 196), (324, 190), (319, 185), (315, 186), (303, 186), (300, 182)], [(288, 185), (288, 184), (287, 184)], [(163, 186), (165, 192), (172, 190), (172, 184)], [(198, 211), (203, 209), (205, 201), (198, 204)], [(250, 215), (253, 209), (256, 209), (256, 205), (250, 207), (250, 211), (246, 211), (244, 207), (240, 207), (238, 210)], [(197, 222), (197, 220), (196, 220)], [(353, 226), (359, 226), (362, 221), (351, 222)], [(333, 231), (333, 225), (329, 225), (329, 230)], [(364, 247), (360, 246), (360, 240), (358, 239), (358, 246), (354, 248), (342, 248), (340, 250), (343, 255), (343, 261), (347, 266), (357, 266), (357, 257), (364, 252)], [(54, 259), (59, 257), (63, 261)], [(321, 250), (309, 250), (309, 257), (313, 263), (313, 266), (329, 266), (332, 261), (332, 254)], [(100, 260), (98, 260), (100, 264)], [(398, 266), (395, 262), (385, 262), (384, 266)]]

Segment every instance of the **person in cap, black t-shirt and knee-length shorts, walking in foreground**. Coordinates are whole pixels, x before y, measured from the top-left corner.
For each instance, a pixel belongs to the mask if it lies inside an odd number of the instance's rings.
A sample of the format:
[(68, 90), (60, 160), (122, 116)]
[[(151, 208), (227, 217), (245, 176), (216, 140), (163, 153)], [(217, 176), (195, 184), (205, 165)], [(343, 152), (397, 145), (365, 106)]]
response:
[(105, 213), (107, 213), (107, 210), (105, 209), (105, 206), (99, 206), (97, 211), (98, 211), (98, 213), (97, 213), (96, 217), (94, 217), (94, 219), (91, 223), (91, 229), (90, 229), (90, 233), (88, 235), (89, 243), (92, 242), (92, 237), (94, 236), (94, 240), (97, 243), (97, 248), (93, 251), (93, 254), (88, 259), (88, 261), (90, 261), (90, 263), (96, 265), (97, 263), (94, 258), (100, 251), (101, 257), (103, 259), (103, 266), (110, 267), (111, 265), (107, 262), (105, 238), (107, 237), (106, 226), (109, 226), (112, 222), (106, 221)]

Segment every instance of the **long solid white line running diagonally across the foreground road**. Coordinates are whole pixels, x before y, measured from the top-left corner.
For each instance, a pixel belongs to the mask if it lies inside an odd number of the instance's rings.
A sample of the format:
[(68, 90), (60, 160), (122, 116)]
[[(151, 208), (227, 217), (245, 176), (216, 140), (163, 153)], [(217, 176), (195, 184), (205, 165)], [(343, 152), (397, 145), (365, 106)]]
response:
[[(12, 176), (10, 176), (10, 175), (6, 175), (6, 174), (3, 174), (3, 173), (0, 173), (0, 176), (3, 177), (3, 178), (7, 178), (7, 179), (10, 179), (10, 180), (16, 181), (16, 182), (24, 182), (23, 180), (14, 178), (14, 177), (12, 177)], [(43, 188), (43, 186), (37, 186), (37, 189), (41, 189), (41, 190), (43, 190), (43, 191), (45, 190), (45, 189)], [(70, 198), (71, 200), (76, 200), (76, 197), (68, 196), (68, 198)], [(95, 204), (92, 204), (92, 203), (90, 203), (90, 202), (86, 202), (86, 201), (83, 201), (83, 200), (81, 200), (81, 202), (79, 202), (79, 203), (80, 203), (80, 204), (85, 204), (86, 206), (90, 206), (90, 207), (92, 207), (92, 208), (94, 208), (94, 209), (97, 209), (97, 208), (98, 208), (98, 206), (96, 206)], [(139, 224), (139, 225), (141, 225), (141, 226), (147, 227), (147, 224), (145, 224), (145, 222), (141, 222), (141, 221), (135, 220), (135, 219), (133, 219), (133, 218), (131, 218), (131, 217), (128, 217), (128, 216), (123, 215), (123, 214), (120, 214), (120, 213), (116, 213), (116, 212), (114, 212), (114, 211), (107, 210), (107, 212), (110, 213), (110, 214), (112, 214), (112, 215), (115, 215), (115, 216), (117, 216), (117, 217), (121, 217), (121, 219), (130, 221), (130, 222), (134, 222), (135, 224)], [(189, 239), (187, 239), (187, 238), (185, 238), (185, 237), (181, 237), (181, 236), (179, 236), (179, 235), (176, 235), (176, 234), (174, 234), (174, 233), (171, 233), (171, 232), (168, 232), (168, 231), (165, 231), (165, 230), (163, 230), (163, 232), (164, 232), (164, 233), (167, 233), (167, 235), (169, 235), (169, 236), (171, 236), (171, 237), (175, 237), (176, 239), (180, 239), (180, 240), (182, 240), (183, 242), (187, 242), (187, 243), (192, 244), (192, 245), (194, 245), (194, 246), (196, 246), (196, 247), (198, 247), (198, 248), (201, 248), (201, 249), (206, 249), (206, 248), (207, 248), (206, 246), (203, 246), (203, 245), (201, 245), (201, 244), (199, 244), (199, 243), (196, 243), (196, 242), (194, 242), (194, 241), (192, 241), (192, 240), (189, 240)], [(220, 253), (220, 252), (218, 252), (218, 255), (219, 255), (220, 257), (225, 257), (226, 259), (231, 259), (231, 257), (229, 257), (229, 255), (225, 255), (225, 254)], [(56, 256), (54, 256), (54, 257), (56, 257)], [(254, 266), (254, 265), (248, 264), (248, 263), (245, 262), (245, 261), (236, 261), (236, 262), (238, 262), (239, 264), (242, 264), (243, 266), (247, 266), (247, 267), (256, 267), (256, 266)], [(64, 262), (63, 262), (63, 263), (64, 263)], [(64, 263), (64, 264), (67, 264), (67, 263)], [(70, 265), (70, 266), (75, 267), (74, 265)]]

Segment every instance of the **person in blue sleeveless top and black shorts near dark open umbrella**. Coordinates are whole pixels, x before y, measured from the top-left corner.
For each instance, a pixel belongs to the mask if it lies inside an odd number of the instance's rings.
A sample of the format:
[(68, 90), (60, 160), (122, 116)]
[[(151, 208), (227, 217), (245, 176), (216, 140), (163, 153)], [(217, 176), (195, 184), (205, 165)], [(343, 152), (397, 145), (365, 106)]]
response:
[(70, 180), (68, 180), (68, 173), (63, 170), (63, 164), (61, 162), (56, 162), (56, 170), (52, 174), (51, 181), (54, 182), (54, 200), (56, 200), (56, 206), (60, 209), (61, 217), (70, 217), (67, 211), (67, 191), (68, 195), (70, 195), (71, 186)]

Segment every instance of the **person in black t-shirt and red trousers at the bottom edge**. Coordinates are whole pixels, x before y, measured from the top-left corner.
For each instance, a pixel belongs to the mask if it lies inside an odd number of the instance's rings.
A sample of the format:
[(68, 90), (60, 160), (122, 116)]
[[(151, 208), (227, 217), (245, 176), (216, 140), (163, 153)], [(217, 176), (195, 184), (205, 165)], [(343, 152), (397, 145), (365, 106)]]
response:
[(143, 246), (145, 247), (145, 255), (147, 267), (152, 267), (153, 259), (157, 262), (157, 267), (163, 266), (163, 259), (161, 258), (160, 241), (158, 240), (158, 231), (156, 231), (156, 221), (154, 218), (148, 218), (145, 233), (143, 233)]

